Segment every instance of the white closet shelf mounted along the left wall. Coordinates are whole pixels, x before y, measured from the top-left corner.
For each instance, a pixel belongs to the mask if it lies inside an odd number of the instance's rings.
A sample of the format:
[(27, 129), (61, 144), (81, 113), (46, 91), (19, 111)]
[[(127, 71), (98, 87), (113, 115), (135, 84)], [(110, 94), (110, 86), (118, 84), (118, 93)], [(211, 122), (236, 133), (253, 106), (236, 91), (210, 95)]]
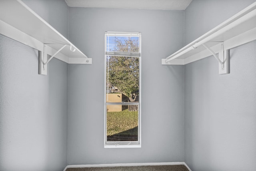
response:
[[(42, 42), (42, 44), (47, 44), (47, 46), (55, 51), (59, 50), (64, 44), (71, 45), (72, 50), (76, 48), (76, 46), (74, 46), (68, 39), (62, 36), (62, 34), (38, 16), (38, 14), (32, 11), (21, 0), (1, 0), (0, 20), (2, 20), (0, 23), (0, 34), (8, 36), (23, 44), (27, 44), (28, 40), (36, 39), (39, 42)], [(23, 37), (17, 38), (17, 35), (20, 34), (23, 34)], [(36, 48), (33, 44), (28, 43), (27, 45)], [(41, 48), (36, 49), (42, 51)], [(71, 58), (87, 58), (87, 56), (78, 48), (76, 48), (75, 52), (70, 51), (70, 46), (66, 46), (58, 56), (61, 56), (62, 54), (64, 56), (60, 57), (60, 59), (64, 59), (63, 61), (67, 63)], [(58, 56), (56, 56), (56, 58), (58, 58)], [(66, 59), (66, 57), (68, 57), (68, 59)], [(79, 60), (75, 61), (79, 62)]]

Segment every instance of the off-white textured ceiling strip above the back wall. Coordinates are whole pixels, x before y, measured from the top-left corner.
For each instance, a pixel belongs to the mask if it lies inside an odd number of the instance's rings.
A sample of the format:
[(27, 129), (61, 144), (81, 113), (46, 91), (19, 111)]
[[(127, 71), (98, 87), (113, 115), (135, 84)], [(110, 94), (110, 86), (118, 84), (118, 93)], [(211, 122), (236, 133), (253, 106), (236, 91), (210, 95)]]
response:
[(192, 0), (65, 0), (70, 7), (185, 10)]

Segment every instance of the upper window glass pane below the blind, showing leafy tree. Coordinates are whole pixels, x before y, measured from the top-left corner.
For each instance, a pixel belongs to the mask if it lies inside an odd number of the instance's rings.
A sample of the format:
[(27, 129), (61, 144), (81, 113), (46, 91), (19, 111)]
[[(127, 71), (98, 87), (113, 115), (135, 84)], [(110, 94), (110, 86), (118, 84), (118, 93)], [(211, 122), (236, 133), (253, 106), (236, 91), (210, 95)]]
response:
[(106, 102), (139, 101), (139, 64), (137, 57), (107, 56)]

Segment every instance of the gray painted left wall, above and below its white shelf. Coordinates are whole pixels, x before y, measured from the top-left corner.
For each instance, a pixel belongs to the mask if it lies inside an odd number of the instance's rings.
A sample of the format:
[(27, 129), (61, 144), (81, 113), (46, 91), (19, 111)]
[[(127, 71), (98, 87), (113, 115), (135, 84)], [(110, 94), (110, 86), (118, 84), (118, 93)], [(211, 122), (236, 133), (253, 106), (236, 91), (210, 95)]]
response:
[[(64, 0), (24, 0), (68, 36)], [(0, 35), (0, 170), (60, 171), (67, 165), (68, 64), (38, 75), (38, 51)]]

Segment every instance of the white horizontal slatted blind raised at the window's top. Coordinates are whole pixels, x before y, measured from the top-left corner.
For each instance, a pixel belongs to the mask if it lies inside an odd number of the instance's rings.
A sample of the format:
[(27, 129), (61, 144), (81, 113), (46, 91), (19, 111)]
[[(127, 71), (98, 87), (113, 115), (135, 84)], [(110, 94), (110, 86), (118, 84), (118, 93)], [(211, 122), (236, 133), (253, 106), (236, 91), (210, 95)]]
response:
[(141, 34), (108, 33), (106, 38), (106, 55), (140, 57)]

